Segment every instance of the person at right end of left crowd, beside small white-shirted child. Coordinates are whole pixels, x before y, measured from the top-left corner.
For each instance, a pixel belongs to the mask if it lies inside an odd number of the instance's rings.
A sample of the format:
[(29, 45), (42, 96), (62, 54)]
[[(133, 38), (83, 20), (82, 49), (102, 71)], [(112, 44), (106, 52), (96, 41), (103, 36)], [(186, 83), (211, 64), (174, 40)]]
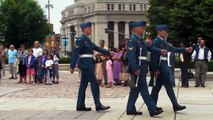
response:
[[(58, 84), (59, 83), (59, 70), (58, 70), (58, 61), (60, 59), (59, 54), (56, 51), (56, 47), (52, 49), (53, 53), (53, 83)], [(56, 78), (56, 81), (55, 81)]]

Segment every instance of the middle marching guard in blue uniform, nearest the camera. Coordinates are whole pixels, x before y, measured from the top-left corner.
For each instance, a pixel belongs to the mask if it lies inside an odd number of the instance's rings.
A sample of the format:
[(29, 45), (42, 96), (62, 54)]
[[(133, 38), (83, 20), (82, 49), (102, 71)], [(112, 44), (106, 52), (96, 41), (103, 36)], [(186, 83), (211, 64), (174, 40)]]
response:
[(155, 102), (149, 94), (148, 86), (146, 83), (147, 74), (147, 51), (164, 53), (167, 51), (148, 46), (142, 39), (142, 34), (144, 32), (146, 22), (145, 21), (135, 21), (131, 23), (133, 28), (133, 35), (128, 42), (128, 72), (131, 74), (131, 85), (129, 99), (127, 103), (127, 115), (142, 115), (142, 112), (138, 112), (135, 108), (135, 102), (140, 93), (145, 104), (148, 107), (150, 116), (158, 115), (163, 112), (162, 108), (156, 107)]

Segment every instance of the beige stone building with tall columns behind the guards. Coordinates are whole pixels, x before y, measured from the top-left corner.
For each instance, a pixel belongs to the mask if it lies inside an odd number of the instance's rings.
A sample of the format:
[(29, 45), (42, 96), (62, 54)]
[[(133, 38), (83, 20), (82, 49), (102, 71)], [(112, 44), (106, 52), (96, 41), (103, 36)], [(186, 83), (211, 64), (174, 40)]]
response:
[[(147, 21), (145, 14), (149, 9), (148, 0), (74, 0), (74, 2), (61, 13), (61, 37), (69, 40), (67, 50), (73, 47), (75, 41), (71, 33), (76, 31), (76, 37), (81, 35), (79, 27), (81, 22), (92, 22), (93, 31), (90, 38), (93, 42), (99, 44), (99, 40), (104, 39), (106, 47), (115, 48), (121, 46), (124, 38), (131, 34), (129, 27), (131, 21)], [(105, 33), (105, 28), (125, 35)]]

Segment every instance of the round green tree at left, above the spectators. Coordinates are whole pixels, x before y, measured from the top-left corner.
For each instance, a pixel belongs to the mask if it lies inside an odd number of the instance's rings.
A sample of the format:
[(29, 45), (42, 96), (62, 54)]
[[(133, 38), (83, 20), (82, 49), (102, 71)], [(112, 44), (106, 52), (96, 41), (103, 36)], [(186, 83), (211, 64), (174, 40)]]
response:
[(0, 6), (0, 35), (4, 44), (31, 47), (50, 31), (44, 12), (35, 0), (4, 0)]

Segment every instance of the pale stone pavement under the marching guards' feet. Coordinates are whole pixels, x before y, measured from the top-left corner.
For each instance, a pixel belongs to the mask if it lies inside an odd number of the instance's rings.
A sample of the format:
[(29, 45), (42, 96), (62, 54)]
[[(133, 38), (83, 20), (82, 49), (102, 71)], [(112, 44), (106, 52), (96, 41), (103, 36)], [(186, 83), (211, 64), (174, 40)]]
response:
[[(57, 85), (17, 84), (15, 80), (3, 80), (0, 84), (0, 120), (212, 120), (213, 118), (213, 81), (206, 83), (206, 88), (181, 88), (176, 80), (174, 88), (180, 104), (187, 109), (174, 113), (164, 87), (159, 95), (158, 106), (164, 112), (150, 117), (146, 105), (139, 96), (137, 109), (142, 116), (127, 116), (125, 107), (128, 99), (128, 87), (100, 87), (101, 101), (110, 105), (108, 111), (96, 112), (90, 87), (87, 89), (86, 105), (92, 107), (90, 112), (75, 111), (76, 96), (79, 86), (77, 74), (60, 72), (61, 79)], [(151, 87), (149, 88), (151, 90)], [(9, 91), (9, 92), (5, 92)], [(3, 94), (4, 93), (4, 94)]]

